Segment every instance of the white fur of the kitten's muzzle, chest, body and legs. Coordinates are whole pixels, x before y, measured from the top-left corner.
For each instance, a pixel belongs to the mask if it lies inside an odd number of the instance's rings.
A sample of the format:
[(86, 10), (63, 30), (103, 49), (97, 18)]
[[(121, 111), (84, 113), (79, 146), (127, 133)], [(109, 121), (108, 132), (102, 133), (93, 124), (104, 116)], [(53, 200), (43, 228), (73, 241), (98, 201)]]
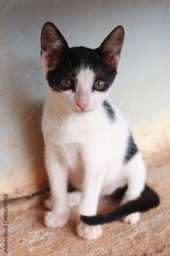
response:
[[(138, 198), (145, 186), (145, 165), (140, 153), (126, 165), (123, 164), (129, 127), (124, 117), (117, 114), (114, 105), (116, 120), (107, 131), (102, 132), (104, 126), (110, 123), (102, 106), (109, 91), (92, 92), (94, 77), (93, 71), (82, 69), (77, 75), (75, 93), (71, 90), (54, 92), (50, 88), (42, 118), (45, 163), (52, 196), (52, 202), (45, 205), (47, 208), (53, 206), (47, 212), (45, 224), (59, 227), (67, 222), (70, 214), (69, 181), (82, 192), (81, 200), (79, 195), (77, 233), (84, 239), (101, 235), (99, 225), (89, 226), (79, 220), (79, 215), (96, 215), (100, 195), (109, 195), (127, 184), (130, 192), (122, 202), (125, 203)], [(84, 111), (76, 105), (77, 100), (88, 102)], [(101, 173), (104, 173), (103, 177)], [(138, 218), (139, 214), (135, 213), (127, 216), (125, 221), (135, 223)]]

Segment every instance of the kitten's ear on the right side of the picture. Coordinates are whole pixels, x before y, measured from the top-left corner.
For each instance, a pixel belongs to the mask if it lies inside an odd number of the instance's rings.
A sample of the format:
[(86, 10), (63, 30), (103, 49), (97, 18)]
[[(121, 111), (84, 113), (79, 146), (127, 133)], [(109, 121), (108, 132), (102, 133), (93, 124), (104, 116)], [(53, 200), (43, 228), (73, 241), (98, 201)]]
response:
[(103, 62), (106, 63), (111, 70), (117, 68), (119, 65), (124, 34), (123, 27), (117, 26), (106, 39), (104, 39), (99, 47)]

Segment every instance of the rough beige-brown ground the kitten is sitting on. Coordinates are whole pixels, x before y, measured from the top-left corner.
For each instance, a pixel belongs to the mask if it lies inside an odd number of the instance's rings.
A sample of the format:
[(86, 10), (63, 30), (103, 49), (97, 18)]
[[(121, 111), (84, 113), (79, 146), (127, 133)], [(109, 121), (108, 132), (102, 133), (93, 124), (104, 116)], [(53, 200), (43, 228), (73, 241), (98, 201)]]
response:
[[(3, 204), (0, 204), (2, 223), (0, 255), (170, 255), (170, 155), (166, 154), (167, 151), (168, 149), (145, 160), (147, 169), (150, 169), (152, 164), (155, 167), (147, 176), (147, 183), (158, 192), (161, 204), (154, 210), (142, 213), (136, 225), (125, 224), (122, 221), (104, 224), (102, 236), (97, 240), (82, 240), (76, 234), (76, 207), (74, 207), (65, 227), (47, 228), (43, 223), (43, 216), (46, 212), (43, 201), (49, 195), (47, 191), (38, 200), (36, 196), (9, 201), (8, 254), (3, 251), (4, 219), (2, 217), (4, 210)], [(161, 155), (165, 158), (163, 162), (159, 159)], [(156, 167), (156, 162), (158, 167)], [(100, 200), (99, 212), (106, 211), (113, 204), (114, 201), (111, 198)], [(27, 210), (22, 213), (24, 207)]]

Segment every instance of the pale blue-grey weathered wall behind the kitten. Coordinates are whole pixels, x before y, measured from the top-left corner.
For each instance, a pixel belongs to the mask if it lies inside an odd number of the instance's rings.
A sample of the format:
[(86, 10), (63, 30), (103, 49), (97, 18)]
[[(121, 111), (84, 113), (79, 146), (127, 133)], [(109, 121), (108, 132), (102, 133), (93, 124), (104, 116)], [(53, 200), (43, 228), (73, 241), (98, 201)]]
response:
[[(68, 37), (70, 47), (96, 48), (115, 26), (124, 26), (121, 62), (110, 98), (124, 112), (143, 154), (169, 145), (168, 0), (103, 0), (97, 8), (93, 6), (98, 0), (11, 1), (0, 3), (1, 199), (4, 194), (31, 195), (47, 185), (38, 131), (41, 103), (48, 95), (40, 58), (41, 29), (47, 21)], [(67, 34), (70, 28), (74, 32)]]

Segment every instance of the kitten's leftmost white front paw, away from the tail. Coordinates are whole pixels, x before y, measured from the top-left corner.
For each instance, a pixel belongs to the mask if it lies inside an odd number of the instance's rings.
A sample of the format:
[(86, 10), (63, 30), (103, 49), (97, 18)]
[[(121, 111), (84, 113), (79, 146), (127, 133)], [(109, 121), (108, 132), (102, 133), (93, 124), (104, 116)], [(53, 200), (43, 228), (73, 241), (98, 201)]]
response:
[(52, 211), (48, 211), (44, 217), (44, 223), (49, 228), (57, 228), (64, 226), (69, 218), (69, 213), (67, 215), (55, 215)]

